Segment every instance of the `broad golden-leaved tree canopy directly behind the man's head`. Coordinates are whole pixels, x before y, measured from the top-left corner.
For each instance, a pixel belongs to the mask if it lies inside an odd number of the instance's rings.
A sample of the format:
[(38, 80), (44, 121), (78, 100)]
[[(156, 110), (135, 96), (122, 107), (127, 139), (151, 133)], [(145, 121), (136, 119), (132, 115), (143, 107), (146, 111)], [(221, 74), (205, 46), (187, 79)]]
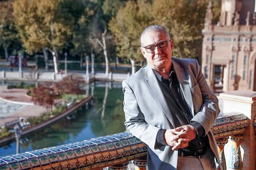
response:
[[(139, 51), (140, 34), (144, 28), (153, 24), (163, 25), (168, 30), (174, 41), (174, 57), (200, 57), (202, 30), (209, 1), (128, 1), (109, 22), (109, 29), (114, 36), (119, 57), (128, 58), (131, 63), (142, 60)], [(220, 15), (218, 14), (220, 4), (220, 0), (214, 1), (216, 9), (214, 20)]]

